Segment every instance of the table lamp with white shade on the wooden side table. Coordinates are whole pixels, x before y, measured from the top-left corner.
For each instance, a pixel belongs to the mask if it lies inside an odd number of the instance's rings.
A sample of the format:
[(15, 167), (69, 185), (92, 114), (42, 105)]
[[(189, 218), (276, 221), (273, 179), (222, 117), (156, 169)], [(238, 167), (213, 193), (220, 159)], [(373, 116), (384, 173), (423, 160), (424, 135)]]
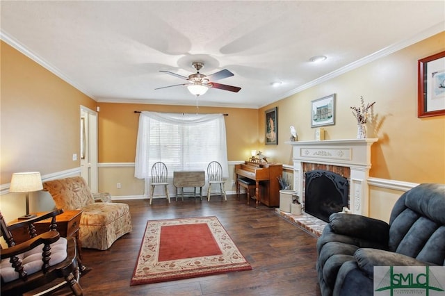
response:
[(19, 217), (19, 220), (35, 217), (35, 215), (29, 214), (29, 192), (42, 189), (42, 177), (40, 176), (40, 172), (21, 172), (13, 174), (9, 192), (26, 192), (26, 215)]

